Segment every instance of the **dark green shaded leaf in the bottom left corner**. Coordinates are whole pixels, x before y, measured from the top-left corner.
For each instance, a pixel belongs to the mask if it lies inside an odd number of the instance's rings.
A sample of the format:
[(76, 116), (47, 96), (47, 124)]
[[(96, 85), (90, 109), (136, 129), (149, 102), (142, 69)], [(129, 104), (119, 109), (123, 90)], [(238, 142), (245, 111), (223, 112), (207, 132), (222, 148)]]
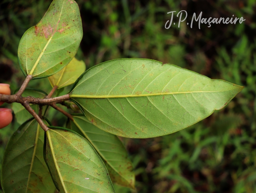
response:
[(11, 136), (4, 151), (1, 185), (6, 193), (54, 193), (43, 157), (44, 130), (33, 118)]

